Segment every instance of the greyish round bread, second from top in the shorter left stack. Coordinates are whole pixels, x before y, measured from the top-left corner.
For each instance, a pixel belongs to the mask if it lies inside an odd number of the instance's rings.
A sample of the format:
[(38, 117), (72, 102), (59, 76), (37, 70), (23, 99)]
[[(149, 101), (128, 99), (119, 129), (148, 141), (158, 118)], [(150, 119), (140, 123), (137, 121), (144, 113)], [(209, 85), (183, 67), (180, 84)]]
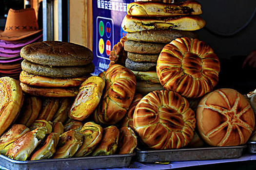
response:
[(52, 77), (52, 78), (70, 78), (70, 77), (82, 77), (94, 72), (94, 64), (89, 63), (84, 66), (66, 66), (66, 67), (51, 67), (46, 65), (40, 65), (32, 63), (28, 60), (21, 62), (22, 70), (27, 73)]

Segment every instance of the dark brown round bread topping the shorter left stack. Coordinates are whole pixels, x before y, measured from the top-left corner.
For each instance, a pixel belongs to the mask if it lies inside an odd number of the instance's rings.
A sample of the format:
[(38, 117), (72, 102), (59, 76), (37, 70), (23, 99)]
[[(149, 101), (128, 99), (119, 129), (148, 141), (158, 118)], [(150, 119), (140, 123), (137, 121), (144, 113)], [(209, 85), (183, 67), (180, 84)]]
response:
[(32, 63), (46, 66), (82, 66), (93, 62), (93, 52), (78, 44), (43, 41), (26, 45), (20, 56)]

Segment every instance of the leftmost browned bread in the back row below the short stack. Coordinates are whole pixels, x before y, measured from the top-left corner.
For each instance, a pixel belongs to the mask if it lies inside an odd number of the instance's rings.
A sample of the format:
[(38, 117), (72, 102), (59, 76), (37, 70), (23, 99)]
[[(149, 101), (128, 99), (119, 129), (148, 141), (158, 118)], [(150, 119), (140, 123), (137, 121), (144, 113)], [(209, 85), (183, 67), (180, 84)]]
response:
[(24, 96), (24, 103), (20, 110), (18, 123), (29, 127), (37, 118), (42, 106), (42, 101), (37, 96)]

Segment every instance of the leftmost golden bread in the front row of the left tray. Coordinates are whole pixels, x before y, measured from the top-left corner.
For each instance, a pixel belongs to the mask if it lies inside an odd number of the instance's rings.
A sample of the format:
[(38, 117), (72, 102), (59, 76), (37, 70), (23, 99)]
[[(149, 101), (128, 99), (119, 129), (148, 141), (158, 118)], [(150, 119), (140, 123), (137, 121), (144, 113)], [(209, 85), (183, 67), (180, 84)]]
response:
[(0, 137), (0, 154), (5, 155), (13, 143), (29, 131), (30, 129), (23, 124), (13, 124)]

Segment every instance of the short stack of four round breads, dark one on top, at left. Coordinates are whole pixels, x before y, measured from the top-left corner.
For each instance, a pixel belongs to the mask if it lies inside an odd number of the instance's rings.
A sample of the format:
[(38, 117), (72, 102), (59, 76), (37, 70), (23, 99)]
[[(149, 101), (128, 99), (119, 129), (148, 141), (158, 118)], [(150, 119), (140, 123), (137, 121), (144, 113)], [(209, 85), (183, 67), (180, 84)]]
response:
[(23, 47), (20, 85), (24, 93), (43, 97), (75, 97), (79, 85), (94, 71), (93, 53), (86, 47), (43, 41)]

